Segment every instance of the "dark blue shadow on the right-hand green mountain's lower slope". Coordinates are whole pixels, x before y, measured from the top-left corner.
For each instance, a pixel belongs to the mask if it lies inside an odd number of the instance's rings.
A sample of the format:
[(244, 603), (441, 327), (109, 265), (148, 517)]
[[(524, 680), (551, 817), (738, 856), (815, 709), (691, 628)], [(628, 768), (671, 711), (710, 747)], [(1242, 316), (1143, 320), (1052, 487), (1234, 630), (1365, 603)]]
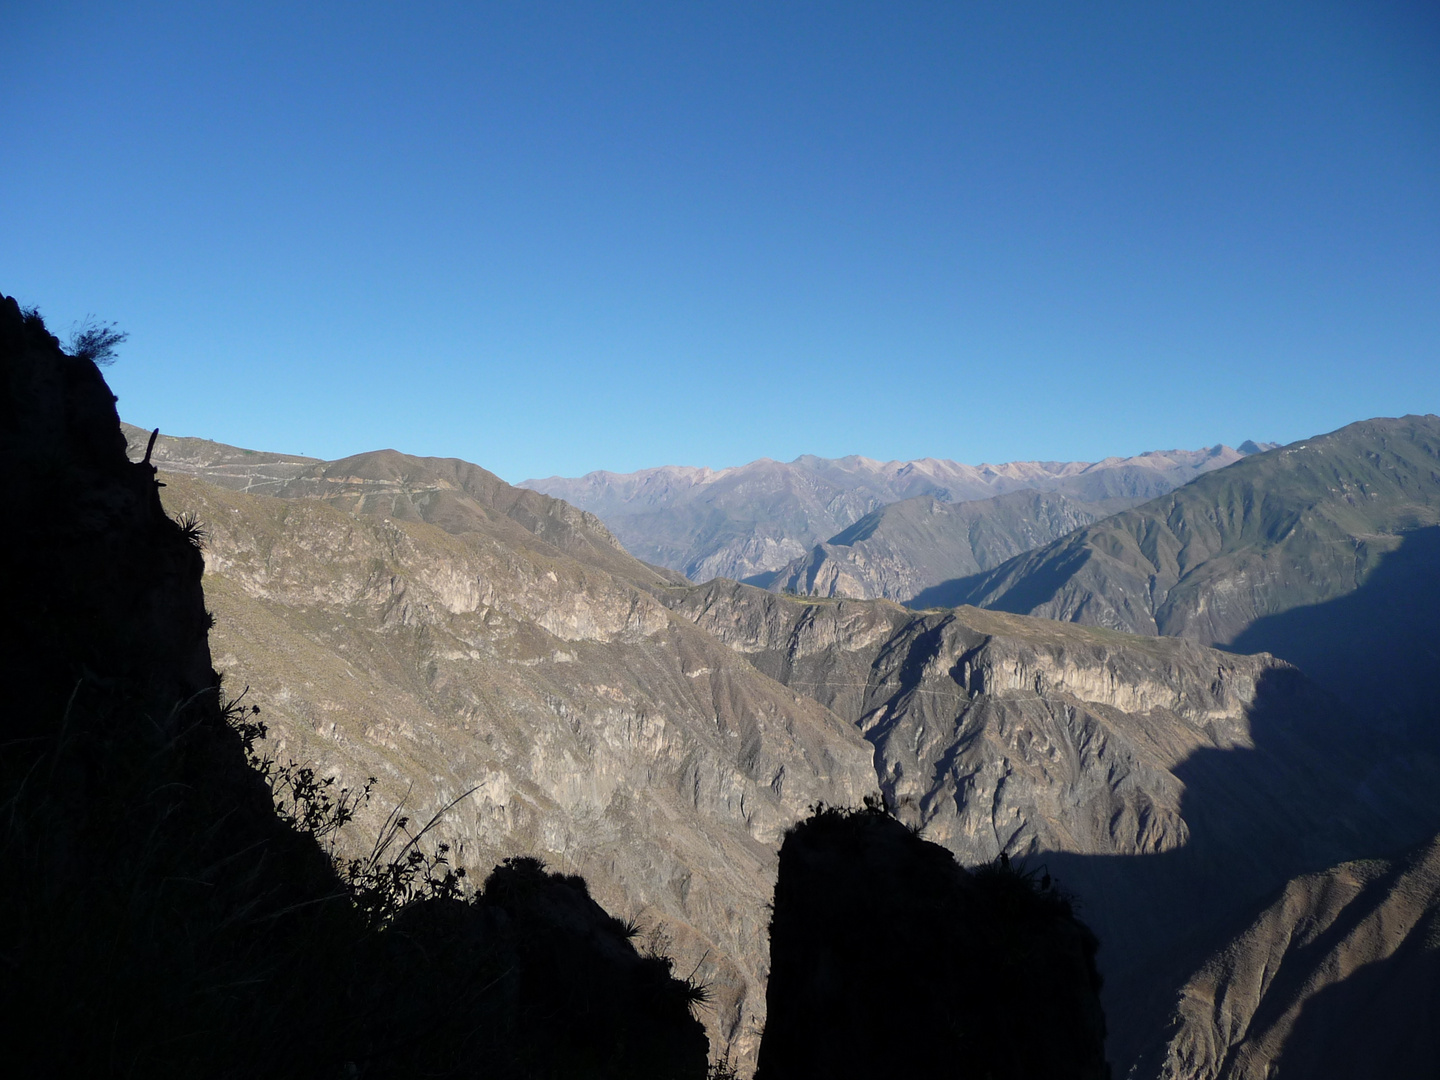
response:
[(1359, 588), (1256, 619), (1231, 652), (1273, 652), (1358, 710), (1440, 747), (1440, 526), (1403, 533)]

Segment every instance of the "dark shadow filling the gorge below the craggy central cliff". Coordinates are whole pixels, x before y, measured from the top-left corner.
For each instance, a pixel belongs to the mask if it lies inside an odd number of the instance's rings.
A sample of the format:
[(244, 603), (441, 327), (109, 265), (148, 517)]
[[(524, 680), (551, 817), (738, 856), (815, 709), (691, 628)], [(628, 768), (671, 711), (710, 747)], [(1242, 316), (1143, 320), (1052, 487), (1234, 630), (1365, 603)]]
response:
[(1142, 855), (1038, 851), (1100, 939), (1119, 1076), (1164, 1031), (1181, 982), (1305, 873), (1390, 855), (1440, 827), (1436, 763), (1358, 726), (1300, 672), (1274, 668), (1247, 710), (1251, 747), (1202, 749), (1179, 848)]

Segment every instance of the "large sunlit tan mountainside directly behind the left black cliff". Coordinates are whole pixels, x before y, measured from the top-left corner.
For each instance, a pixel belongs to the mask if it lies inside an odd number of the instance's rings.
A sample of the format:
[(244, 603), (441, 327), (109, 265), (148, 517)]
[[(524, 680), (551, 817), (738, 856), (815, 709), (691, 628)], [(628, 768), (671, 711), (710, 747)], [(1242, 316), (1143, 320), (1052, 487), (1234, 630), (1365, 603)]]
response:
[(295, 498), (161, 474), (204, 524), (228, 693), (249, 687), (281, 757), (379, 776), (380, 811), (458, 799), (435, 837), (467, 864), (582, 874), (711, 985), (713, 1041), (747, 1060), (775, 845), (812, 802), (874, 786), (868, 744), (639, 588), (661, 579), (589, 516), (413, 461), (337, 462)]

